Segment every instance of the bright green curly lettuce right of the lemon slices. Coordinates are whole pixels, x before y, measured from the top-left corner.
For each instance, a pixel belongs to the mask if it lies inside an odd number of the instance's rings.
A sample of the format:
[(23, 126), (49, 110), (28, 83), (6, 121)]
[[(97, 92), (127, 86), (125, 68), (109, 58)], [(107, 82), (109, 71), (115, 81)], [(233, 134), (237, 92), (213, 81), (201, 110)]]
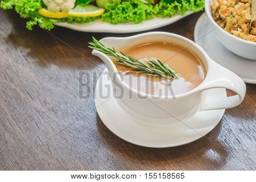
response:
[(141, 23), (143, 20), (159, 16), (171, 17), (177, 13), (200, 11), (204, 8), (204, 0), (161, 0), (155, 6), (144, 4), (138, 0), (121, 1), (114, 0), (112, 4), (105, 6), (106, 12), (102, 20), (112, 24), (119, 22)]

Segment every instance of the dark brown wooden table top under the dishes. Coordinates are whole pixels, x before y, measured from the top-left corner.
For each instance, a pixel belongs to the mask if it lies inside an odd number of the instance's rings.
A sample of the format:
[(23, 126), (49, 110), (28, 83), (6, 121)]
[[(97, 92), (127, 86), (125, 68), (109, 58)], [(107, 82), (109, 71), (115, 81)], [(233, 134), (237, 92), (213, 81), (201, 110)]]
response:
[[(193, 40), (200, 15), (154, 31)], [(87, 48), (92, 36), (135, 34), (28, 31), (14, 11), (3, 10), (0, 22), (1, 170), (256, 169), (256, 85), (246, 84), (242, 104), (226, 110), (206, 137), (180, 147), (139, 147), (98, 117), (93, 88), (105, 65)], [(79, 75), (88, 72), (79, 89)]]

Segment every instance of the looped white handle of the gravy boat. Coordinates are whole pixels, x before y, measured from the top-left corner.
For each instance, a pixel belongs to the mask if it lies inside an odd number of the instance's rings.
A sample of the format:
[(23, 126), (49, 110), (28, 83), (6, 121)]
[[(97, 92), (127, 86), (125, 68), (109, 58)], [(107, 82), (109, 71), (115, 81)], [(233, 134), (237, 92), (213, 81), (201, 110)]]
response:
[(211, 98), (210, 100), (202, 100), (200, 104), (200, 110), (218, 110), (229, 109), (240, 105), (245, 98), (246, 85), (243, 80), (238, 77), (232, 71), (222, 67), (217, 63), (213, 63), (209, 70), (203, 85), (200, 87), (200, 91), (213, 89), (213, 88), (225, 88), (237, 93), (235, 96), (224, 98)]

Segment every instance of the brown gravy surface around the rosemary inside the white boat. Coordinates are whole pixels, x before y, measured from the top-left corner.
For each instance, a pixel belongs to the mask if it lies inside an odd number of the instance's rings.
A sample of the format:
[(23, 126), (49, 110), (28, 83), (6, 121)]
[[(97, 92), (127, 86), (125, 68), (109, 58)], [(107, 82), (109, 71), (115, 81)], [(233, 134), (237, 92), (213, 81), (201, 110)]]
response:
[(206, 72), (199, 57), (189, 49), (167, 42), (151, 42), (128, 49), (121, 49), (126, 55), (147, 61), (159, 59), (176, 70), (180, 77), (168, 80), (163, 77), (134, 74), (133, 69), (115, 64), (123, 80), (134, 89), (158, 96), (173, 96), (188, 92), (203, 82)]

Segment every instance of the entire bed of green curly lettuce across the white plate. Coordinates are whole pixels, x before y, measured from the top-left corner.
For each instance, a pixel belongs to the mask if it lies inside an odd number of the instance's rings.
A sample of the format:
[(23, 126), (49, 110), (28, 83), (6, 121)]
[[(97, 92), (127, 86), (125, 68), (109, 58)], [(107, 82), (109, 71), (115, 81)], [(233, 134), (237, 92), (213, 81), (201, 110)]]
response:
[[(87, 5), (93, 0), (77, 0), (76, 5)], [(26, 18), (28, 30), (33, 26), (39, 26), (46, 30), (54, 28), (57, 22), (92, 22), (96, 18), (101, 18), (104, 22), (116, 24), (119, 22), (141, 23), (143, 20), (152, 19), (154, 16), (162, 18), (171, 17), (177, 13), (200, 11), (204, 8), (204, 0), (160, 0), (153, 5), (152, 0), (146, 0), (143, 3), (139, 0), (121, 1), (114, 0), (111, 4), (106, 4), (105, 13), (98, 17), (68, 17), (63, 19), (47, 18), (38, 13), (38, 10), (45, 8), (42, 0), (2, 0), (0, 7), (2, 9), (14, 9), (22, 18)]]

